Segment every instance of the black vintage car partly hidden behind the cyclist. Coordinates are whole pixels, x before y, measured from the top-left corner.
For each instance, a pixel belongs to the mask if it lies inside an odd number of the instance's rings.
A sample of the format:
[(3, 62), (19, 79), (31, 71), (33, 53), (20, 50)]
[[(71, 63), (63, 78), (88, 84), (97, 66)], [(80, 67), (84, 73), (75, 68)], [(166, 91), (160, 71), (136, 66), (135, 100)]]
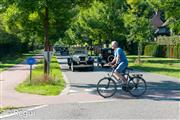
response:
[(111, 62), (114, 59), (114, 50), (112, 48), (103, 48), (101, 49), (101, 53), (97, 58), (97, 65), (101, 65), (102, 67)]

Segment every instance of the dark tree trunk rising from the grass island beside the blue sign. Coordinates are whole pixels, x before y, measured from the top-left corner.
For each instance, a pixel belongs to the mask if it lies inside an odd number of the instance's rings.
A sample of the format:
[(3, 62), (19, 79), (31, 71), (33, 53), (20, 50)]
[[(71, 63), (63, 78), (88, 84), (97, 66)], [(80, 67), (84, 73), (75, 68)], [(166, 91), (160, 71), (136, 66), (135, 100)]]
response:
[[(48, 7), (45, 8), (45, 19), (44, 19), (44, 51), (49, 51), (49, 40), (48, 40)], [(48, 62), (44, 59), (44, 75), (48, 76)]]

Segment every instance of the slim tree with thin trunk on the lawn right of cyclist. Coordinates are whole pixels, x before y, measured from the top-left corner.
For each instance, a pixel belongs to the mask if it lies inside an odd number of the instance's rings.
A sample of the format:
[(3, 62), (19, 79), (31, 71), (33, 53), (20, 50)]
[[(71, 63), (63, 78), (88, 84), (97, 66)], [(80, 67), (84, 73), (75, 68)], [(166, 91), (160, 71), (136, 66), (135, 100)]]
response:
[(152, 36), (152, 27), (149, 21), (152, 11), (145, 0), (127, 0), (127, 3), (129, 5), (129, 9), (124, 15), (125, 26), (129, 29), (127, 39), (129, 41), (138, 42), (137, 62), (140, 63), (142, 43), (144, 41), (148, 41)]

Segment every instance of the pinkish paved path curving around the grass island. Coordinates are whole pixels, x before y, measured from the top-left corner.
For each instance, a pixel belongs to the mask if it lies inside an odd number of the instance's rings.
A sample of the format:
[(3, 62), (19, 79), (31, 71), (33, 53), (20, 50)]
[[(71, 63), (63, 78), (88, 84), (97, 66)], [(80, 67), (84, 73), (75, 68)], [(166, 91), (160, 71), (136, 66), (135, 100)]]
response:
[[(37, 56), (37, 59), (42, 56)], [(43, 96), (26, 93), (19, 93), (15, 87), (29, 76), (29, 66), (27, 64), (18, 64), (4, 72), (0, 73), (0, 106), (32, 106), (42, 104), (57, 104), (67, 102), (77, 102), (84, 100), (103, 99), (97, 95), (89, 94), (68, 94), (68, 89), (58, 96)]]

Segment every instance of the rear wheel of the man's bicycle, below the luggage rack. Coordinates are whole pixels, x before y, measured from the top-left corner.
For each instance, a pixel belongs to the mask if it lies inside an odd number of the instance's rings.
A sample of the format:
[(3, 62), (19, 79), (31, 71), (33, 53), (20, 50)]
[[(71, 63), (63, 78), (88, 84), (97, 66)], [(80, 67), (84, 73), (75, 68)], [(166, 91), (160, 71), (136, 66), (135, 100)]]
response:
[(141, 77), (133, 77), (128, 82), (128, 91), (134, 97), (140, 97), (146, 92), (146, 81)]

